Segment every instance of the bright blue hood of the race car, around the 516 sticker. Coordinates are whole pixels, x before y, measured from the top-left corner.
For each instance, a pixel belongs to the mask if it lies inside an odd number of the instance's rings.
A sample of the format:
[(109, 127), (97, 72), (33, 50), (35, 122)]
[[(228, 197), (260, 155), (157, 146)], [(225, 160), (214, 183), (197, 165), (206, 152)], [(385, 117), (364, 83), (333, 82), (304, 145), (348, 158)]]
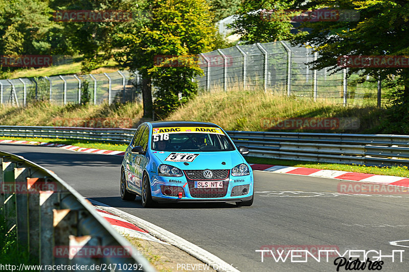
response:
[[(155, 155), (163, 164), (171, 165), (181, 170), (232, 169), (236, 165), (245, 163), (240, 153), (238, 153), (236, 150), (217, 152), (180, 152), (199, 154), (193, 162), (189, 162), (189, 165), (185, 165), (183, 162), (165, 161), (170, 153), (174, 152), (164, 151), (164, 153), (159, 153), (159, 151), (157, 151), (156, 153), (153, 153), (153, 155)], [(226, 164), (222, 165), (222, 162), (225, 162)]]

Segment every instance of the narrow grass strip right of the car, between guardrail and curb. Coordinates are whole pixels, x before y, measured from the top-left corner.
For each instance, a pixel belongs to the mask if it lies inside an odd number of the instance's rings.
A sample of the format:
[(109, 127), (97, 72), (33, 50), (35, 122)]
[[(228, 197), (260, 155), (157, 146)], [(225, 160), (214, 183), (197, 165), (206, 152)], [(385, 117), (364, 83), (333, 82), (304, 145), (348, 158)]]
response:
[(294, 167), (306, 167), (306, 168), (316, 168), (316, 169), (368, 173), (368, 174), (376, 174), (376, 175), (391, 175), (391, 176), (409, 177), (409, 169), (407, 166), (377, 167), (377, 166), (366, 166), (366, 165), (299, 162), (299, 161), (290, 161), (290, 160), (278, 160), (275, 158), (258, 158), (258, 157), (249, 157), (249, 156), (246, 156), (245, 159), (248, 163), (251, 163), (251, 164), (283, 165), (283, 166), (294, 166)]

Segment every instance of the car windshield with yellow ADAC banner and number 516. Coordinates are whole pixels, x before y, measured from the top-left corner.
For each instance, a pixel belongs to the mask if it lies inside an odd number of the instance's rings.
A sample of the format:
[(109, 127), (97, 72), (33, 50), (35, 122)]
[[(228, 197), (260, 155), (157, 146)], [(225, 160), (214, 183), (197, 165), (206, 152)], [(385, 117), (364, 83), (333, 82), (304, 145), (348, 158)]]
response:
[(232, 151), (228, 137), (215, 127), (153, 128), (152, 150), (172, 152)]

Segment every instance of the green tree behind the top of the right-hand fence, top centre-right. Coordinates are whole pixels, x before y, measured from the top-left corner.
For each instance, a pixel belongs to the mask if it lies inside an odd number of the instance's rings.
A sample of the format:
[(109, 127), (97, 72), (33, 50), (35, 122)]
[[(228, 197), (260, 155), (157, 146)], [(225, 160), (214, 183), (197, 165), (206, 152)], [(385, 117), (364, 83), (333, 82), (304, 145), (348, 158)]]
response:
[(285, 18), (274, 18), (271, 14), (283, 14), (290, 7), (289, 1), (243, 0), (232, 24), (235, 33), (248, 43), (289, 40), (292, 25)]

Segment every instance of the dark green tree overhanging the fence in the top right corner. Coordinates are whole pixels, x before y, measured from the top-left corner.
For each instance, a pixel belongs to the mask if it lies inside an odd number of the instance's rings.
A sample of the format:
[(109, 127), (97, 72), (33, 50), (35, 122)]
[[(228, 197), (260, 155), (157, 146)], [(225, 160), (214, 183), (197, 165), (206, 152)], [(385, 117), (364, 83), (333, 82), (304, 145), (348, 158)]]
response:
[[(328, 7), (336, 10), (359, 12), (358, 20), (304, 22), (301, 27), (311, 29), (292, 43), (309, 44), (319, 53), (311, 62), (313, 69), (329, 67), (332, 72), (340, 71), (340, 56), (403, 56), (409, 55), (409, 2), (407, 1), (352, 1), (312, 0), (305, 5), (295, 3), (301, 9)], [(396, 87), (392, 94), (384, 132), (409, 132), (409, 70), (406, 67), (350, 67), (348, 75), (360, 71), (388, 82)]]

